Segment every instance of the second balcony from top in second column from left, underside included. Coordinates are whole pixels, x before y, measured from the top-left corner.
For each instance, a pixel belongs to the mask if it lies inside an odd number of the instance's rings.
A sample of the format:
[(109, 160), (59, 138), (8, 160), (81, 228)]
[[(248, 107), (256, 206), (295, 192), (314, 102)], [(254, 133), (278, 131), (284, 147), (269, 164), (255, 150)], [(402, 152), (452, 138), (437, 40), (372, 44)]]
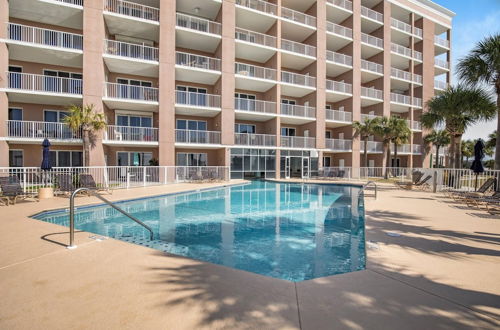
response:
[(103, 57), (111, 72), (158, 77), (158, 48), (104, 40)]

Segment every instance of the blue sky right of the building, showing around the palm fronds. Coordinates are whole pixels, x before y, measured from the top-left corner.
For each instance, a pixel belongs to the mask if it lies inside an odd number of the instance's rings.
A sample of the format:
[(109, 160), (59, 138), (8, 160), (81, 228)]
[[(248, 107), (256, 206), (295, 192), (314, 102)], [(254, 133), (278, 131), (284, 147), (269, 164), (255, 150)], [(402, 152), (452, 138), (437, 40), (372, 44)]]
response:
[[(484, 37), (500, 33), (500, 0), (433, 0), (455, 12), (452, 27), (452, 70), (457, 61), (467, 55), (475, 43)], [(458, 82), (456, 77), (452, 82)], [(496, 119), (470, 127), (465, 139), (487, 139), (496, 129)]]

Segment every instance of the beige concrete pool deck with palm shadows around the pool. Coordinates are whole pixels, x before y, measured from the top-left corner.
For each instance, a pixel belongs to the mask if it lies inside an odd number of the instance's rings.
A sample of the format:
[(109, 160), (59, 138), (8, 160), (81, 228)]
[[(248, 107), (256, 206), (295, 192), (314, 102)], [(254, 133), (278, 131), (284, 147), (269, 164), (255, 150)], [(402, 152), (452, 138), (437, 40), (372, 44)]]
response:
[(67, 205), (54, 198), (0, 207), (0, 329), (500, 327), (500, 219), (438, 194), (380, 185), (378, 199), (365, 200), (367, 269), (298, 283), (85, 232), (67, 250), (66, 227), (28, 218)]

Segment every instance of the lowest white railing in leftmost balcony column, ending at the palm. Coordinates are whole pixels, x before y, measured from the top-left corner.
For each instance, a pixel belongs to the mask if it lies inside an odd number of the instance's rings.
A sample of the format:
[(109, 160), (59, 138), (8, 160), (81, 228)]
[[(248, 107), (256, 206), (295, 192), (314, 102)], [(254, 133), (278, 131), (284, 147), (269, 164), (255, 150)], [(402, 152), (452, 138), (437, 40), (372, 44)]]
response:
[(82, 132), (65, 123), (7, 120), (7, 136), (16, 139), (81, 140)]

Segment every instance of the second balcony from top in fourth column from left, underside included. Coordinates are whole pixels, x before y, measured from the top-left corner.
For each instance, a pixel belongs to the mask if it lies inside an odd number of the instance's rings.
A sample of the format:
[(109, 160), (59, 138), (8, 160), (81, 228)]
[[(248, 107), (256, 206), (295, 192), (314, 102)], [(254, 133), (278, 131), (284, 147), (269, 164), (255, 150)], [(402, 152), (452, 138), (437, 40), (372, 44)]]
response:
[(276, 37), (236, 28), (236, 58), (259, 63), (267, 62), (276, 54)]

